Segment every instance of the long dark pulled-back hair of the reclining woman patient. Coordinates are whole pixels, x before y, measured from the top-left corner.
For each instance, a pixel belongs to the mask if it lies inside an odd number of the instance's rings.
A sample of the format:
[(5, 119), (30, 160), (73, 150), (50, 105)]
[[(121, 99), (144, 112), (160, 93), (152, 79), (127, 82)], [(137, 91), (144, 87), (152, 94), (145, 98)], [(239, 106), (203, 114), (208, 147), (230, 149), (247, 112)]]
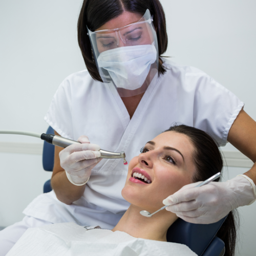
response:
[[(165, 132), (176, 132), (186, 135), (195, 147), (193, 161), (196, 166), (194, 182), (204, 181), (211, 176), (222, 172), (223, 159), (215, 140), (207, 133), (195, 127), (184, 124), (175, 124)], [(219, 180), (215, 180), (219, 181)], [(238, 214), (236, 210), (229, 212), (226, 220), (217, 232), (225, 243), (225, 256), (233, 256), (237, 242)]]

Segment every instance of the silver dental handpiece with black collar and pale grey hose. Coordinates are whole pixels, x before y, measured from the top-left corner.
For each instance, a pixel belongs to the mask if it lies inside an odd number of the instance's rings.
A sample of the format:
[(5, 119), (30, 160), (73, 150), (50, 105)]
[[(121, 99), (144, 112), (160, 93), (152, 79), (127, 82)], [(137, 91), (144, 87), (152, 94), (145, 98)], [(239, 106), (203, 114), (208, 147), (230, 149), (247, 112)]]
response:
[[(0, 134), (18, 134), (18, 135), (32, 136), (32, 137), (40, 138), (50, 144), (53, 144), (55, 146), (60, 146), (60, 147), (67, 147), (71, 144), (81, 144), (78, 141), (66, 139), (55, 134), (45, 134), (45, 133), (39, 134), (39, 133), (31, 133), (31, 132), (23, 132), (23, 131), (1, 131), (1, 130), (0, 130)], [(100, 152), (101, 158), (109, 158), (109, 159), (123, 158), (123, 164), (127, 164), (127, 161), (125, 160), (125, 153), (123, 151), (120, 153), (115, 153), (115, 152), (110, 152), (106, 150), (99, 150), (99, 152)]]

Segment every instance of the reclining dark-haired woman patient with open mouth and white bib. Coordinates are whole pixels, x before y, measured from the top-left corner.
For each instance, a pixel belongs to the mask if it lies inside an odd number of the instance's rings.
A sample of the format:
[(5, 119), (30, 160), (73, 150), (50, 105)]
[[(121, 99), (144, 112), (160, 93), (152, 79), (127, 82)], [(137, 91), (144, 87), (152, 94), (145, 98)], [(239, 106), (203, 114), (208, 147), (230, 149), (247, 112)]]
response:
[[(130, 164), (122, 196), (131, 203), (112, 230), (59, 223), (29, 228), (9, 251), (12, 255), (196, 255), (187, 246), (166, 242), (168, 228), (178, 217), (161, 210), (162, 201), (186, 184), (221, 172), (219, 148), (205, 132), (175, 125), (148, 141)], [(226, 223), (226, 224), (225, 224)], [(236, 229), (230, 212), (217, 234), (233, 255)]]

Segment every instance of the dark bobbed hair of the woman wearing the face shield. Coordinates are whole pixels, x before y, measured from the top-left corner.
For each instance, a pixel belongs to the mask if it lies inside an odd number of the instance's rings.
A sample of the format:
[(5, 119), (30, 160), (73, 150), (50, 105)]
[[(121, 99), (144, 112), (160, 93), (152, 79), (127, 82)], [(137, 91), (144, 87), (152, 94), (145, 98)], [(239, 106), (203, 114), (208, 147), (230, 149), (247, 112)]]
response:
[[(146, 10), (153, 15), (153, 24), (157, 33), (158, 52), (161, 56), (167, 49), (167, 32), (163, 7), (159, 0), (84, 0), (77, 23), (78, 45), (81, 49), (87, 70), (93, 79), (102, 79), (94, 61), (87, 27), (95, 31), (111, 19), (118, 17), (124, 11), (144, 15)], [(158, 74), (165, 72), (163, 61), (159, 57)]]

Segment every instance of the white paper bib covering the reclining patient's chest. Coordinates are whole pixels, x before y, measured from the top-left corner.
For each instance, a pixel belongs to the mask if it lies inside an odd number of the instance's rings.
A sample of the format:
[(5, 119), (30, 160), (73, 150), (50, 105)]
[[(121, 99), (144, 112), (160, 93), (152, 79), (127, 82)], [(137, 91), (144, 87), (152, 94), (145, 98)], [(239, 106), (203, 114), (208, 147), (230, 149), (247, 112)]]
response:
[(29, 228), (7, 256), (197, 256), (186, 245), (134, 238), (122, 231), (74, 223)]

